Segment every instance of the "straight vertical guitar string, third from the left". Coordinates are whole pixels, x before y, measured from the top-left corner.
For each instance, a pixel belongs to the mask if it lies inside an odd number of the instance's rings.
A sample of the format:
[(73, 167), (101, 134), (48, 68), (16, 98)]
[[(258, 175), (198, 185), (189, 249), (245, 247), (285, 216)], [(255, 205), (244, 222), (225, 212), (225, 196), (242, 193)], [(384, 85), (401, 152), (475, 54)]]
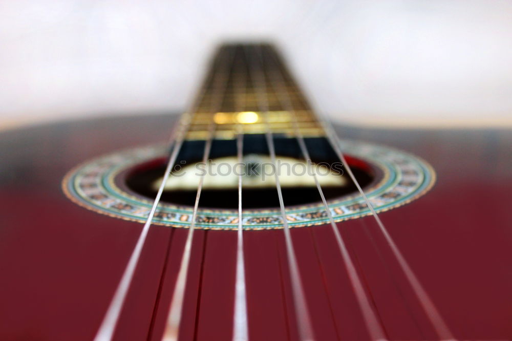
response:
[[(243, 52), (241, 50), (240, 52)], [(240, 69), (242, 66), (239, 62)], [(238, 71), (238, 70), (237, 70)], [(247, 80), (242, 76), (243, 72), (238, 73), (235, 78), (234, 91), (244, 89), (236, 99), (234, 111), (241, 112), (245, 110)], [(244, 150), (244, 134), (242, 123), (238, 123), (237, 134), (237, 162), (242, 165)], [(244, 237), (243, 237), (243, 216), (242, 216), (242, 172), (238, 173), (238, 230), (237, 230), (237, 268), (234, 294), (234, 312), (233, 312), (233, 341), (244, 341), (249, 339), (247, 326), (247, 295), (245, 286), (245, 264), (244, 264)]]

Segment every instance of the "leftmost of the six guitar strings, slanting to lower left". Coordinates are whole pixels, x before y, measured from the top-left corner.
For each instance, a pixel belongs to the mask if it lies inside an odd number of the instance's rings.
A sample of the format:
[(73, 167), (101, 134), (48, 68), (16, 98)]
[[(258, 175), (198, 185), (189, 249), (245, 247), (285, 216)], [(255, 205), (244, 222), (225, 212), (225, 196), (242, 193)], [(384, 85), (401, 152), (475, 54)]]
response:
[[(214, 65), (214, 63), (212, 63), (211, 66), (213, 66), (213, 65)], [(208, 73), (207, 76), (205, 77), (203, 83), (206, 83), (210, 78), (213, 78), (213, 77), (214, 77), (213, 72)], [(132, 283), (132, 280), (133, 280), (135, 268), (137, 267), (137, 264), (140, 259), (140, 254), (142, 252), (142, 248), (146, 241), (147, 233), (150, 229), (157, 206), (160, 202), (160, 198), (162, 196), (165, 183), (166, 183), (170, 173), (172, 172), (172, 168), (174, 167), (174, 165), (176, 163), (178, 153), (180, 152), (181, 147), (183, 145), (183, 141), (185, 139), (186, 132), (189, 129), (190, 113), (192, 113), (196, 110), (197, 105), (199, 105), (199, 102), (204, 97), (205, 93), (206, 93), (206, 88), (203, 87), (203, 89), (200, 90), (199, 96), (195, 100), (193, 100), (193, 103), (191, 105), (189, 105), (189, 110), (181, 117), (180, 122), (178, 123), (177, 129), (173, 130), (172, 134), (169, 137), (169, 143), (172, 144), (172, 148), (171, 148), (172, 152), (170, 153), (169, 160), (168, 160), (167, 166), (165, 168), (165, 173), (164, 173), (164, 176), (162, 179), (162, 183), (160, 184), (160, 187), (158, 188), (158, 192), (157, 192), (157, 195), (153, 202), (153, 205), (151, 207), (150, 213), (148, 214), (146, 222), (144, 223), (144, 226), (142, 227), (140, 235), (137, 239), (137, 243), (135, 244), (135, 247), (132, 250), (130, 259), (129, 259), (129, 261), (123, 271), (123, 274), (121, 276), (121, 280), (119, 281), (119, 284), (116, 288), (116, 291), (114, 292), (114, 295), (109, 304), (109, 307), (106, 310), (105, 315), (103, 316), (101, 325), (98, 328), (98, 331), (96, 332), (94, 341), (109, 341), (112, 339), (117, 322), (119, 320), (119, 316), (121, 314), (121, 309), (123, 307), (124, 301), (126, 300), (126, 295), (127, 295), (128, 289), (130, 288), (130, 284)]]

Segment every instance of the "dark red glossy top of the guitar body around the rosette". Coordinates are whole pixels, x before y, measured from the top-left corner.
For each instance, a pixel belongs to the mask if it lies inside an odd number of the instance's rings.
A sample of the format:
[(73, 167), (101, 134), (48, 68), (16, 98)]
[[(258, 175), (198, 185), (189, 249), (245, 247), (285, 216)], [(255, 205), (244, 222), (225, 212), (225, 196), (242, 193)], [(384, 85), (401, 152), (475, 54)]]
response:
[[(76, 205), (62, 179), (102, 154), (165, 142), (175, 121), (91, 119), (0, 134), (0, 339), (94, 337), (142, 224)], [(379, 217), (457, 339), (512, 338), (512, 133), (337, 130), (433, 166), (428, 193)], [(387, 337), (437, 339), (374, 218), (338, 228)], [(186, 233), (151, 227), (114, 339), (161, 338)], [(368, 339), (331, 227), (291, 235), (316, 339)], [(236, 236), (196, 231), (180, 339), (232, 337)], [(249, 338), (297, 340), (282, 229), (245, 231), (244, 251)]]

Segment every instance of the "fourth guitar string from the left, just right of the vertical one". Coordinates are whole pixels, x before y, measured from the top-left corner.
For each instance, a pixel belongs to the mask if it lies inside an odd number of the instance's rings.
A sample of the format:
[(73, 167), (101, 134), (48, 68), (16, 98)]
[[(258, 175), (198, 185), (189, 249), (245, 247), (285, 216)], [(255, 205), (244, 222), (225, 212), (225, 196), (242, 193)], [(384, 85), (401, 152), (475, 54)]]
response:
[[(279, 206), (281, 209), (281, 217), (283, 219), (283, 231), (284, 231), (284, 237), (286, 242), (286, 254), (288, 259), (288, 266), (289, 266), (289, 272), (290, 272), (290, 280), (291, 280), (291, 287), (292, 287), (292, 297), (293, 297), (293, 303), (295, 305), (295, 317), (298, 325), (298, 331), (300, 338), (302, 340), (313, 340), (313, 329), (311, 326), (311, 319), (309, 316), (307, 303), (306, 303), (306, 297), (304, 294), (304, 288), (302, 285), (300, 273), (298, 270), (297, 265), (297, 259), (295, 256), (295, 250), (293, 248), (293, 242), (290, 235), (290, 228), (288, 226), (288, 221), (286, 217), (286, 211), (283, 201), (283, 193), (281, 189), (281, 184), (279, 182), (279, 176), (276, 168), (276, 157), (275, 157), (275, 146), (273, 141), (273, 134), (270, 127), (270, 123), (268, 120), (269, 116), (269, 108), (268, 108), (268, 99), (266, 96), (267, 90), (266, 90), (266, 80), (265, 80), (265, 74), (262, 72), (262, 68), (260, 67), (261, 64), (261, 47), (260, 50), (258, 48), (255, 48), (254, 51), (255, 54), (258, 54), (260, 56), (259, 60), (256, 62), (249, 62), (249, 65), (252, 65), (253, 67), (250, 68), (250, 71), (252, 71), (253, 77), (253, 84), (255, 86), (256, 95), (258, 98), (258, 106), (259, 111), (263, 113), (264, 117), (264, 123), (266, 124), (266, 133), (265, 138), (267, 141), (267, 146), (270, 154), (270, 159), (272, 162), (272, 166), (274, 169), (274, 178), (275, 178), (275, 186), (278, 191), (278, 197), (279, 197)], [(253, 54), (248, 53), (249, 57), (253, 56)], [(253, 72), (256, 69), (256, 66), (259, 72)], [(265, 95), (263, 95), (265, 94)]]

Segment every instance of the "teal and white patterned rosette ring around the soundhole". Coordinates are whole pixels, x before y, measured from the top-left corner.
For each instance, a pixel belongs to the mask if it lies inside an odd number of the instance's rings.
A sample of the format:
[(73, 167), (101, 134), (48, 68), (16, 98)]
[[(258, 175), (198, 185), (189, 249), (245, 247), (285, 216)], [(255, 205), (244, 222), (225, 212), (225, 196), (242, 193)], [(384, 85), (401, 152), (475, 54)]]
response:
[[(394, 148), (359, 141), (342, 140), (346, 155), (364, 160), (378, 170), (379, 179), (365, 188), (365, 194), (377, 212), (407, 204), (425, 194), (435, 182), (433, 168), (424, 160)], [(143, 198), (116, 184), (116, 177), (127, 169), (166, 155), (164, 145), (131, 148), (87, 161), (72, 169), (62, 182), (65, 194), (73, 202), (101, 214), (144, 223), (152, 206)], [(286, 203), (285, 203), (286, 204)], [(336, 222), (370, 215), (365, 200), (358, 194), (328, 202)], [(193, 207), (161, 202), (154, 224), (187, 228)], [(290, 227), (328, 224), (322, 202), (289, 206), (286, 216)], [(247, 230), (282, 228), (279, 208), (246, 209), (243, 227)], [(200, 208), (196, 228), (236, 230), (236, 210)]]

